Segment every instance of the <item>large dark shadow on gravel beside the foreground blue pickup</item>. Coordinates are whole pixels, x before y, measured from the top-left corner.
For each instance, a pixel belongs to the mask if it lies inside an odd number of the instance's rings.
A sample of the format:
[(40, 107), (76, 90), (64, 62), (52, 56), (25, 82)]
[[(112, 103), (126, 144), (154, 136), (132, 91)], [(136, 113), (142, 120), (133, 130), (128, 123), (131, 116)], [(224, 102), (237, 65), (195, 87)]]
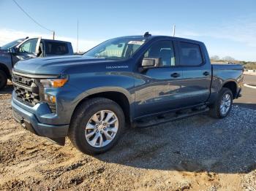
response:
[(253, 112), (234, 106), (223, 120), (200, 115), (127, 130), (116, 147), (96, 157), (135, 168), (248, 173), (256, 168)]

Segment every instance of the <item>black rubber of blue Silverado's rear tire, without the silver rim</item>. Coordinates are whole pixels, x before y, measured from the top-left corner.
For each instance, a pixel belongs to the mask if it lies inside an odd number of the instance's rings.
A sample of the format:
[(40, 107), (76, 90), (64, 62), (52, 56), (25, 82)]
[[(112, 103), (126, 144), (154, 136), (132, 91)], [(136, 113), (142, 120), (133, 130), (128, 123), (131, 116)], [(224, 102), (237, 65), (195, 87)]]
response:
[[(228, 109), (227, 113), (222, 114), (220, 106), (221, 106), (221, 103), (222, 103), (222, 98), (226, 94), (230, 95), (231, 103), (230, 103), (230, 108)], [(217, 100), (210, 107), (210, 116), (214, 117), (214, 118), (217, 118), (217, 119), (222, 119), (224, 117), (227, 117), (227, 115), (230, 113), (230, 111), (232, 109), (232, 104), (233, 104), (233, 93), (227, 87), (222, 87), (222, 90), (220, 90)]]

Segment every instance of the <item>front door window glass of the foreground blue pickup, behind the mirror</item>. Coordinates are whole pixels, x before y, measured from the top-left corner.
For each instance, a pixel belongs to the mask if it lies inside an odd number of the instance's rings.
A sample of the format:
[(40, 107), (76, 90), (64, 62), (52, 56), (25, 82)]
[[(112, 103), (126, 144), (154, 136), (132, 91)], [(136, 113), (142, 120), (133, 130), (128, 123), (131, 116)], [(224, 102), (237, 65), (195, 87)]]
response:
[(175, 66), (175, 57), (172, 42), (155, 42), (144, 54), (144, 58), (160, 58), (160, 67)]

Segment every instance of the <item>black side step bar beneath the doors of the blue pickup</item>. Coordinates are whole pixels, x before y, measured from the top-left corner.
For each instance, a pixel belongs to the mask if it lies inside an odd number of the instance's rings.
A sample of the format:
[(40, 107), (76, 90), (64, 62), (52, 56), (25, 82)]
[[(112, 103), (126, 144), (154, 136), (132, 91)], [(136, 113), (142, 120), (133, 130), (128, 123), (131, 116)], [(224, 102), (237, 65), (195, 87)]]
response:
[(178, 119), (181, 119), (184, 117), (202, 114), (202, 113), (205, 113), (208, 111), (209, 111), (209, 108), (206, 107), (205, 109), (200, 109), (200, 110), (196, 110), (196, 111), (189, 109), (189, 110), (185, 110), (185, 111), (181, 111), (181, 112), (175, 112), (175, 113), (161, 115), (158, 117), (146, 117), (146, 118), (143, 118), (143, 120), (135, 121), (133, 124), (133, 127), (134, 128), (148, 128), (153, 125), (159, 125), (159, 124), (162, 124), (165, 122), (178, 120)]

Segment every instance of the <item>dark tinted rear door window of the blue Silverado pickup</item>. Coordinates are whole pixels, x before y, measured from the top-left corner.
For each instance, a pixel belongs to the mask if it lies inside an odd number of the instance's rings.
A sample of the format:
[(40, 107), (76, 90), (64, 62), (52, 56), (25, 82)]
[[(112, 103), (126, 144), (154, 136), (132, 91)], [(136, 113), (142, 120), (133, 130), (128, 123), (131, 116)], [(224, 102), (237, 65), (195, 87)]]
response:
[(183, 66), (198, 66), (203, 63), (198, 44), (180, 42), (180, 57)]

